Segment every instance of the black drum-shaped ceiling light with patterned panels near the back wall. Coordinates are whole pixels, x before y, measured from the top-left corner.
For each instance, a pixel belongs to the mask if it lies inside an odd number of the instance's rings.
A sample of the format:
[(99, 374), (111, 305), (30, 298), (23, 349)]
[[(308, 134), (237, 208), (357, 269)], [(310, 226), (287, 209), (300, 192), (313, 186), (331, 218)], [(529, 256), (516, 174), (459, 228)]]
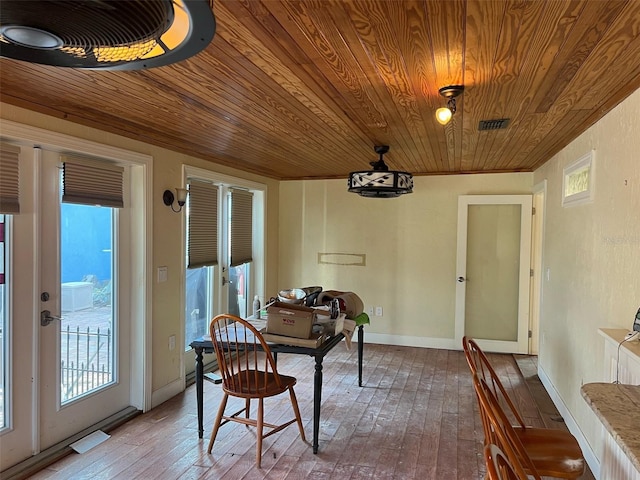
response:
[(383, 156), (389, 151), (388, 145), (374, 147), (380, 159), (370, 162), (373, 170), (351, 172), (349, 174), (349, 191), (362, 197), (394, 198), (413, 192), (413, 176), (408, 172), (389, 170)]

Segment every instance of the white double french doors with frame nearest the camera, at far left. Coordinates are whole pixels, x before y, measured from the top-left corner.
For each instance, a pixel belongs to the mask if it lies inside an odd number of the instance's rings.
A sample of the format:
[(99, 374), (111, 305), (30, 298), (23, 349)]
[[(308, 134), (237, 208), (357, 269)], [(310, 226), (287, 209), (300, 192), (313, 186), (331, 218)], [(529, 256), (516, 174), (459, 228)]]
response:
[[(150, 406), (150, 157), (13, 122), (3, 130), (20, 147), (20, 212), (4, 215), (0, 245), (0, 470)], [(124, 208), (61, 202), (60, 151), (75, 148), (122, 167)]]

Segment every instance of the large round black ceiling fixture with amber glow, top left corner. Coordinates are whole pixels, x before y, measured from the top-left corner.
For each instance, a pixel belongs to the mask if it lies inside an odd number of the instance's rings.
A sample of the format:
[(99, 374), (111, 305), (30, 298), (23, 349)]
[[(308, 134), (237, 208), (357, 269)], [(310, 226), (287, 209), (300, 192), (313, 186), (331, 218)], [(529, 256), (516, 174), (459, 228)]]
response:
[(58, 67), (140, 70), (203, 50), (213, 0), (2, 0), (0, 56)]

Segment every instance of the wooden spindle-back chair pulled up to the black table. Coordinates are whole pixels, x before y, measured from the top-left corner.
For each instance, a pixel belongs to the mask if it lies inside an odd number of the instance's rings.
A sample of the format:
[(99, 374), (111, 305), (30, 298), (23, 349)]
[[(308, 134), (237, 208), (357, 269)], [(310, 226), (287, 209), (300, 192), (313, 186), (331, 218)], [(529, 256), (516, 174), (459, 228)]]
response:
[[(269, 345), (260, 332), (246, 320), (228, 314), (218, 315), (211, 320), (209, 331), (222, 376), (224, 396), (218, 408), (207, 453), (211, 453), (213, 449), (220, 426), (227, 422), (256, 427), (258, 468), (262, 460), (262, 440), (269, 435), (297, 422), (300, 437), (306, 441), (298, 401), (293, 390), (296, 379), (278, 373)], [(286, 391), (289, 391), (295, 417), (279, 425), (264, 422), (264, 399)], [(229, 395), (244, 398), (245, 406), (231, 415), (225, 415)], [(250, 418), (251, 399), (254, 398), (258, 400), (256, 419)], [(244, 417), (239, 416), (243, 412)], [(264, 427), (269, 429), (266, 433)]]

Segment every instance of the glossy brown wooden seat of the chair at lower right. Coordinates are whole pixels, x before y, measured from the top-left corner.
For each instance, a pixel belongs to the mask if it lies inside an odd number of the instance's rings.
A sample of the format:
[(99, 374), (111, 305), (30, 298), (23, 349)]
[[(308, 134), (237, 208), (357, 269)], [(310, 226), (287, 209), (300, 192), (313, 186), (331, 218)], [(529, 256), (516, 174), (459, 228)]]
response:
[(584, 472), (584, 457), (571, 433), (532, 427), (514, 430), (541, 476), (576, 478)]

